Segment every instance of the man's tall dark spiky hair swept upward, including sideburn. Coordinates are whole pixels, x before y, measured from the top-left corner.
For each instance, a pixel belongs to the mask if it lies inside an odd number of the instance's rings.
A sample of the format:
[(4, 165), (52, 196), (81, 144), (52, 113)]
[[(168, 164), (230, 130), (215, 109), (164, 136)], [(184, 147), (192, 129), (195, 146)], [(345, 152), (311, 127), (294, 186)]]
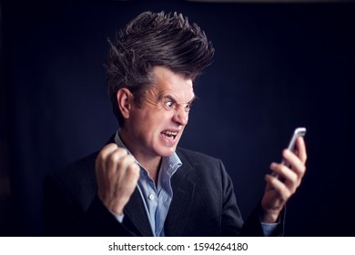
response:
[(117, 106), (117, 91), (127, 87), (140, 104), (147, 87), (152, 86), (154, 66), (195, 80), (210, 65), (214, 48), (197, 24), (174, 13), (144, 12), (119, 32), (110, 45), (106, 61), (108, 94), (118, 123), (123, 117)]

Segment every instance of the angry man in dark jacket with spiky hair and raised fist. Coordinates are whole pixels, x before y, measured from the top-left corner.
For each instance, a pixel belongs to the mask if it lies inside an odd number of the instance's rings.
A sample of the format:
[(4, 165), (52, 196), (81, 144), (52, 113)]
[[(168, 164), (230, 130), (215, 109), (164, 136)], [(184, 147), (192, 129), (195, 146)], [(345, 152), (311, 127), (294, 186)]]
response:
[[(305, 173), (302, 138), (290, 167), (272, 163), (259, 206), (244, 223), (220, 162), (177, 148), (195, 98), (193, 81), (213, 46), (182, 15), (138, 15), (106, 63), (120, 128), (101, 151), (45, 181), (48, 235), (282, 235), (283, 209)], [(280, 179), (276, 176), (280, 176)]]

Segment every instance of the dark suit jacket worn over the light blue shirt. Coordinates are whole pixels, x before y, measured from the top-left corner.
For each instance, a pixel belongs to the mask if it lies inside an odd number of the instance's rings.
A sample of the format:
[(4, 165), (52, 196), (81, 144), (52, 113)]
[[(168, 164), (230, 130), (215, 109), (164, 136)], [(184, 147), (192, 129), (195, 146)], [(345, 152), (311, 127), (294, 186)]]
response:
[[(97, 197), (97, 153), (82, 158), (45, 180), (45, 228), (50, 236), (152, 236), (136, 189), (117, 219)], [(173, 199), (166, 236), (262, 236), (259, 206), (243, 224), (232, 182), (216, 158), (177, 148), (182, 166), (171, 179)], [(283, 223), (279, 224), (279, 233)]]

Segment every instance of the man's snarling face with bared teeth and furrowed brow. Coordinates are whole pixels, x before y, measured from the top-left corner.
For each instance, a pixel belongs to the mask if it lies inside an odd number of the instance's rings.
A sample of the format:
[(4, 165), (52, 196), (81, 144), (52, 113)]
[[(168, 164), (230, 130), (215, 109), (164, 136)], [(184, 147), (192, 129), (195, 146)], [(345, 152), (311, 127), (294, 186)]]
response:
[(195, 97), (191, 79), (162, 66), (153, 68), (153, 77), (154, 86), (147, 89), (141, 106), (132, 104), (125, 122), (127, 147), (136, 158), (167, 157), (175, 152)]

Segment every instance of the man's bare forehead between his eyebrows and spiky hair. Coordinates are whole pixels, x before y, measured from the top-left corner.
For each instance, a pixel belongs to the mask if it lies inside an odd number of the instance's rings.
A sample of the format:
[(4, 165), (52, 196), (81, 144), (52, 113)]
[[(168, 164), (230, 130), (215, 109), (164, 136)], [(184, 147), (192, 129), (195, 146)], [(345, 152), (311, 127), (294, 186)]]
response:
[(155, 66), (152, 70), (154, 87), (158, 97), (170, 96), (178, 101), (188, 102), (195, 94), (192, 80), (172, 72), (163, 66)]

